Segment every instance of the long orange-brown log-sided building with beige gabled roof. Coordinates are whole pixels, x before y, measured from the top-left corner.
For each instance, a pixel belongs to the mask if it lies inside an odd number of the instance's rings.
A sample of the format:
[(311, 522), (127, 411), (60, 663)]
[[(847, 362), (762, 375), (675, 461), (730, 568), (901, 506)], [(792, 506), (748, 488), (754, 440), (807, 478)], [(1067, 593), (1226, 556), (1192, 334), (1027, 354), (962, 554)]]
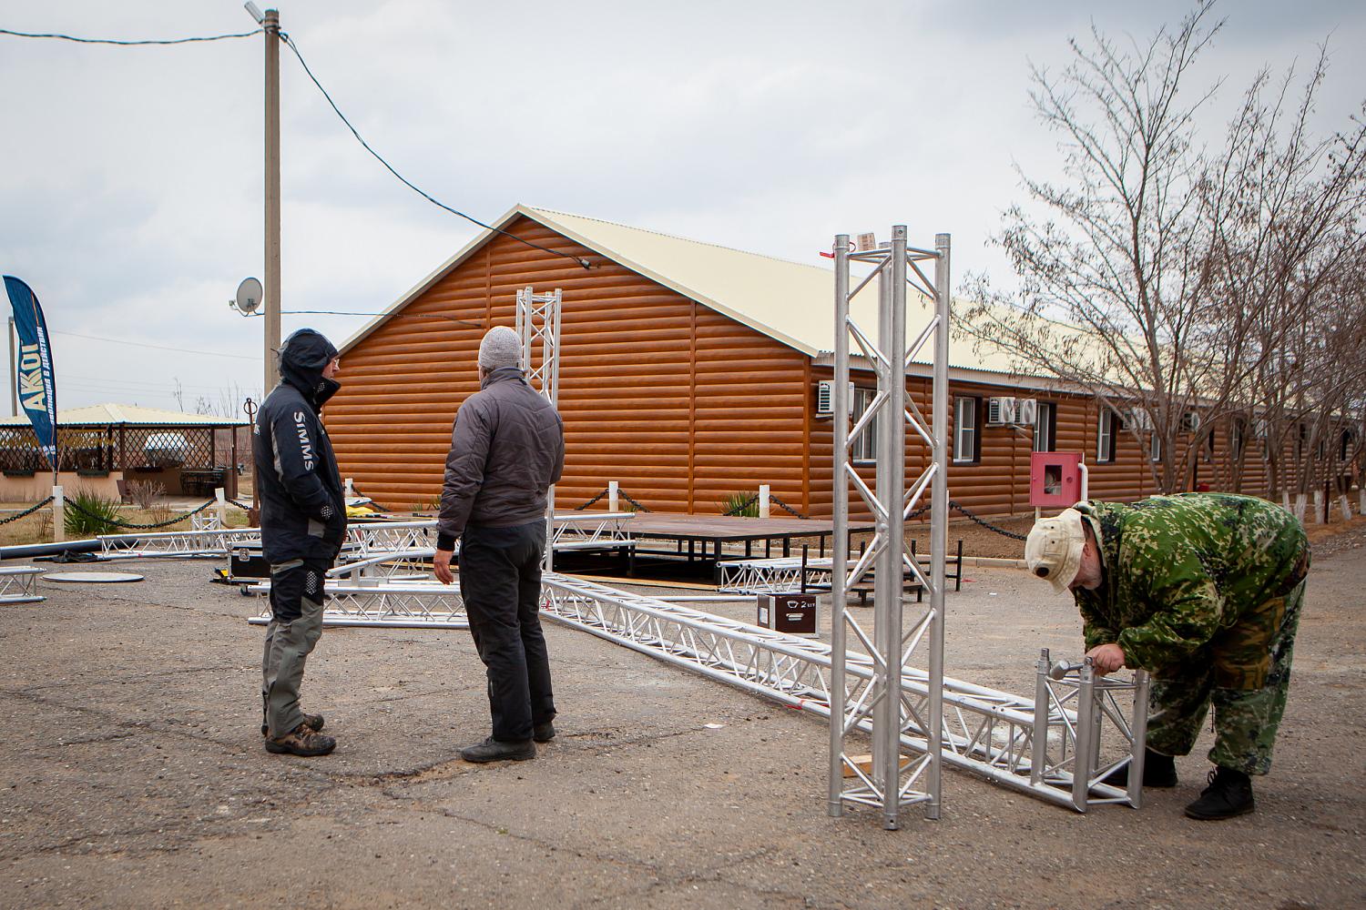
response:
[[(792, 510), (831, 514), (832, 415), (821, 386), (833, 372), (829, 269), (527, 206), (494, 228), (343, 345), (344, 385), (325, 423), (359, 491), (389, 509), (434, 506), (452, 419), (478, 390), (479, 338), (514, 325), (519, 289), (560, 288), (560, 509), (617, 480), (653, 512), (719, 514), (728, 495), (768, 483)], [(872, 289), (854, 304), (870, 332), (874, 307)], [(918, 322), (908, 318), (911, 332)], [(1004, 357), (967, 342), (951, 344), (949, 359), (948, 480), (962, 506), (981, 516), (1031, 512), (1033, 450), (1082, 452), (1093, 497), (1154, 491), (1134, 435), (1089, 396), (1014, 375)], [(876, 387), (872, 371), (862, 377), (856, 409)], [(911, 368), (907, 389), (929, 416), (928, 366)], [(1016, 419), (1001, 420), (1011, 400)], [(1218, 446), (1228, 435), (1212, 438)], [(908, 469), (918, 471), (929, 453), (910, 434), (907, 446)], [(872, 452), (872, 438), (856, 441), (855, 458)], [(1254, 464), (1238, 484), (1221, 482), (1223, 461), (1212, 450), (1193, 483), (1265, 493)]]

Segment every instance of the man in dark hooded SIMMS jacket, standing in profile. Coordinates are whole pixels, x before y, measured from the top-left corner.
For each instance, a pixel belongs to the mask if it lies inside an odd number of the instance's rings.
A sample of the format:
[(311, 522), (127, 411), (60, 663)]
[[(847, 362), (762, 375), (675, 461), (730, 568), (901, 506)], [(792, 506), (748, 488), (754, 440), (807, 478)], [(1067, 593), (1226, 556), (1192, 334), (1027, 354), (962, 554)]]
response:
[(261, 735), (269, 752), (322, 756), (322, 715), (299, 708), (303, 664), (322, 634), (322, 581), (346, 536), (346, 498), (322, 404), (340, 389), (337, 349), (313, 329), (280, 345), (280, 385), (253, 427), (261, 543), (270, 563), (270, 625), (261, 662)]

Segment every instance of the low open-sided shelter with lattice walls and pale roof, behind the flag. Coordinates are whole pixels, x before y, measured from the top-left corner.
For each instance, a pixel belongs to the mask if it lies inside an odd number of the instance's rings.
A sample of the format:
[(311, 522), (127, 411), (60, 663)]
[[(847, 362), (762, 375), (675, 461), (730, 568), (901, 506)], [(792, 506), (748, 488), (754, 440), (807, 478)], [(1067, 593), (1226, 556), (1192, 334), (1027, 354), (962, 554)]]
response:
[[(59, 483), (119, 495), (133, 480), (158, 483), (169, 495), (236, 497), (238, 427), (245, 417), (180, 413), (98, 404), (57, 411)], [(0, 417), (0, 499), (42, 498), (52, 465), (25, 416)]]

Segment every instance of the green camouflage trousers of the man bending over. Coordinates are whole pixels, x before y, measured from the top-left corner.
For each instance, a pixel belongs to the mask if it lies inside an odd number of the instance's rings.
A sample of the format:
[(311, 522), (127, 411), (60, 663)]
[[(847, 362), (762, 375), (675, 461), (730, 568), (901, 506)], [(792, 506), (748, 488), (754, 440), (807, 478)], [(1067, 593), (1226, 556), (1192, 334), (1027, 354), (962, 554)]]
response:
[(1303, 602), (1300, 581), (1284, 598), (1250, 611), (1246, 622), (1240, 619), (1179, 673), (1154, 678), (1147, 748), (1168, 756), (1190, 754), (1213, 705), (1209, 760), (1244, 774), (1270, 771)]

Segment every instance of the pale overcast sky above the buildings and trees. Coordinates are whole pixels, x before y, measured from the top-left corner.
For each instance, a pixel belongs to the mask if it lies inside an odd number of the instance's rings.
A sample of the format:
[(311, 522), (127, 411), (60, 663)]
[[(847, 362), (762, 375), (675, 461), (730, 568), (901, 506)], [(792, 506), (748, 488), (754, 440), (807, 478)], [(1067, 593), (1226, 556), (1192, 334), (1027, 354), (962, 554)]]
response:
[[(1146, 40), (1190, 10), (1171, 0), (276, 5), (370, 145), (484, 221), (522, 202), (813, 263), (835, 233), (885, 237), (904, 222), (912, 243), (953, 235), (955, 278), (1003, 280), (986, 240), (1022, 198), (1015, 168), (1049, 175), (1059, 161), (1029, 108), (1030, 63), (1065, 63), (1067, 38), (1091, 20)], [(1305, 67), (1325, 40), (1321, 128), (1359, 112), (1366, 4), (1243, 0), (1216, 14), (1228, 25), (1195, 72), (1227, 80), (1210, 117), (1259, 67)], [(236, 0), (4, 0), (0, 27), (139, 40), (255, 23)], [(262, 68), (261, 35), (169, 48), (0, 35), (0, 271), (44, 306), (59, 407), (194, 411), (205, 398), (221, 411), (260, 396), (262, 321), (227, 302), (243, 277), (264, 277)], [(280, 71), (283, 308), (377, 312), (478, 229), (385, 172), (288, 49)], [(365, 322), (283, 318), (284, 334), (314, 326), (337, 344)]]

